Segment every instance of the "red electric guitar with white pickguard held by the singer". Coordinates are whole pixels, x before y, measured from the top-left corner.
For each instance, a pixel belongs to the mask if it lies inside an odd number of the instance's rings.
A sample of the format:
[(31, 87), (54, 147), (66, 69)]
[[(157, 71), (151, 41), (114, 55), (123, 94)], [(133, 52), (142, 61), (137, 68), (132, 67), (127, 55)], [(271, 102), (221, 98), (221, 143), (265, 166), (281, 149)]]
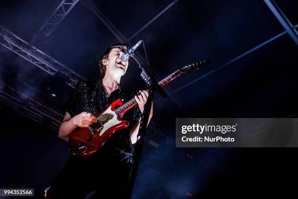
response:
[[(158, 84), (163, 87), (178, 76), (199, 70), (209, 64), (210, 61), (203, 60), (185, 66), (159, 81)], [(96, 116), (97, 122), (91, 124), (88, 128), (75, 130), (69, 135), (69, 146), (74, 155), (81, 158), (91, 156), (100, 149), (113, 133), (128, 127), (129, 122), (122, 120), (122, 117), (137, 102), (133, 98), (125, 104), (122, 103), (121, 100), (114, 101), (105, 111)]]

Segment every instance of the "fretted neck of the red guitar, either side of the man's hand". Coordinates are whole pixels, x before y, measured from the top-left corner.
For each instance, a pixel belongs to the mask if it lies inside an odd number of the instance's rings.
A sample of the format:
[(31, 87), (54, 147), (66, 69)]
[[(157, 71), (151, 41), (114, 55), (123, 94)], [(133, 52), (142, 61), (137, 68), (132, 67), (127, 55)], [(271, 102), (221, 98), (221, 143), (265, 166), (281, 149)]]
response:
[[(161, 87), (164, 87), (165, 85), (167, 85), (170, 81), (174, 80), (175, 78), (177, 78), (178, 76), (180, 76), (182, 74), (182, 72), (180, 70), (176, 70), (174, 73), (170, 74), (168, 77), (166, 77), (165, 79), (161, 80), (158, 82), (158, 84)], [(119, 115), (119, 114), (124, 114), (125, 112), (127, 112), (130, 108), (132, 108), (133, 106), (135, 106), (137, 104), (136, 100), (133, 98), (131, 100), (129, 100), (128, 102), (126, 102), (125, 104), (123, 104), (122, 106), (118, 107), (117, 109), (114, 110), (114, 112)]]

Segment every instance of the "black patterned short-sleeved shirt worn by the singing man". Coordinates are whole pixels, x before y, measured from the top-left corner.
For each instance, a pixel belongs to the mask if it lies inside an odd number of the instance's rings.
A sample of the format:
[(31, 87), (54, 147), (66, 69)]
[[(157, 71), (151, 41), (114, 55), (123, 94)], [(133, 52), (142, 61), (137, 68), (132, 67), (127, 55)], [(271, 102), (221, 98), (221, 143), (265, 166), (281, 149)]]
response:
[[(102, 113), (113, 101), (123, 100), (123, 103), (134, 98), (134, 94), (127, 93), (120, 88), (114, 90), (108, 98), (102, 81), (79, 81), (75, 86), (75, 91), (65, 105), (71, 117), (84, 111), (92, 113), (94, 116)], [(119, 153), (132, 155), (133, 148), (130, 141), (130, 129), (141, 117), (141, 111), (136, 105), (124, 114), (123, 120), (130, 122), (129, 126), (114, 133), (103, 147), (117, 149)], [(102, 147), (102, 148), (103, 148)], [(99, 149), (100, 150), (100, 149)]]

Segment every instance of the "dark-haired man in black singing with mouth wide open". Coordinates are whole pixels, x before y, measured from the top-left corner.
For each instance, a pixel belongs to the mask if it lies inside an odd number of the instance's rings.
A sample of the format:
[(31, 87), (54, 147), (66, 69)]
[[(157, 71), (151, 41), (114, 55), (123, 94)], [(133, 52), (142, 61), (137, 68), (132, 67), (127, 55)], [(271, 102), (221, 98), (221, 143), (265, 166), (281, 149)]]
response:
[[(132, 144), (137, 141), (140, 116), (149, 96), (147, 91), (135, 96), (121, 89), (120, 80), (129, 63), (122, 62), (120, 58), (128, 48), (127, 44), (109, 47), (99, 62), (101, 80), (77, 83), (75, 92), (66, 103), (59, 136), (68, 139), (77, 127), (89, 127), (96, 122), (95, 116), (113, 101), (122, 99), (125, 103), (134, 97), (138, 106), (131, 108), (123, 117), (130, 122), (129, 127), (114, 133), (88, 158), (71, 155), (51, 184), (47, 192), (48, 199), (84, 199), (93, 191), (93, 198), (123, 198), (132, 161)], [(151, 106), (149, 120), (152, 112)]]

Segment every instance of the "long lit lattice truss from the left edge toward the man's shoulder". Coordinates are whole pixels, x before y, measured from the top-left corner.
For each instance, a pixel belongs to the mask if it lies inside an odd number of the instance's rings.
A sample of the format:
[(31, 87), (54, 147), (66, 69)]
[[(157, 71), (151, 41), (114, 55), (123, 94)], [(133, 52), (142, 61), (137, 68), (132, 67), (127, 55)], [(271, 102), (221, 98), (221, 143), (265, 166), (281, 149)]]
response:
[(69, 81), (66, 82), (67, 85), (74, 88), (78, 80), (86, 80), (64, 64), (46, 55), (2, 26), (0, 26), (0, 36), (2, 37), (2, 40), (0, 41), (1, 45), (18, 54), (25, 60), (30, 61), (50, 75), (54, 76), (59, 72), (67, 76), (69, 78)]

